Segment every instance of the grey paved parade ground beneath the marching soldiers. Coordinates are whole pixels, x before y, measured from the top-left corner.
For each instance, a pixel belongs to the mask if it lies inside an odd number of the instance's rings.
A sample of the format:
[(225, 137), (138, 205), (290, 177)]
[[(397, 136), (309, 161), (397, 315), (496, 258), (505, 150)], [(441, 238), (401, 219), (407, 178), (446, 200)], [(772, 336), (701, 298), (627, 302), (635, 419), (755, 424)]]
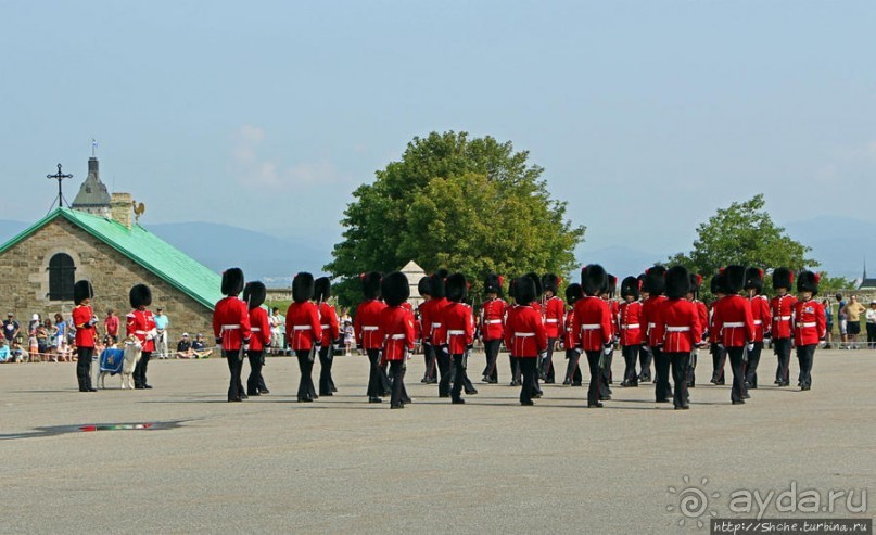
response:
[[(417, 355), (404, 410), (366, 403), (363, 356), (337, 357), (339, 392), (312, 404), (295, 403), (292, 357), (268, 359), (269, 395), (236, 404), (215, 356), (153, 360), (149, 391), (113, 377), (79, 393), (73, 364), (2, 366), (0, 532), (674, 534), (759, 512), (873, 518), (876, 351), (817, 351), (810, 392), (773, 386), (764, 351), (739, 406), (709, 384), (703, 352), (687, 411), (617, 382), (602, 409), (586, 408), (586, 383), (521, 407), (499, 364), (500, 383), (482, 384), (474, 355), (480, 393), (452, 406), (420, 383)], [(771, 501), (746, 511), (746, 493)]]

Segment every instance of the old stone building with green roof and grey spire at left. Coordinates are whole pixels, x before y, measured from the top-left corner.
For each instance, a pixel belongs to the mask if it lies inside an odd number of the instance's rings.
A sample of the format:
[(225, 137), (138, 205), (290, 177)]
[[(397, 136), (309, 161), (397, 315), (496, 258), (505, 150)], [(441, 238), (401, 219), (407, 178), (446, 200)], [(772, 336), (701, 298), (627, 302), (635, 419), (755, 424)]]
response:
[(12, 311), (22, 323), (34, 313), (67, 318), (73, 284), (87, 279), (94, 288), (94, 314), (102, 320), (113, 308), (124, 318), (128, 291), (142, 282), (152, 289), (150, 309), (162, 307), (170, 318), (170, 342), (182, 331), (212, 340), (221, 277), (132, 221), (130, 194), (104, 196), (97, 162), (92, 167), (89, 161), (89, 180), (90, 191), (84, 184), (76, 198), (88, 212), (55, 208), (0, 246), (2, 314)]

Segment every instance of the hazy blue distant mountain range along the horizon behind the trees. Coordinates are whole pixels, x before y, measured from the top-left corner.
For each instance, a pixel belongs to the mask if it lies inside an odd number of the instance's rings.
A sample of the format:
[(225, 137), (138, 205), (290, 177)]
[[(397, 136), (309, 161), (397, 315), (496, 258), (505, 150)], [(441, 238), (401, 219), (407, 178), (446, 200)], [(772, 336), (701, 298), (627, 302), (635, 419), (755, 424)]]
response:
[[(0, 219), (0, 243), (28, 225)], [(321, 273), (322, 266), (331, 259), (331, 244), (320, 249), (294, 238), (283, 239), (229, 225), (195, 221), (147, 225), (145, 228), (211, 269), (221, 271), (240, 266), (247, 279), (263, 280), (268, 286), (288, 288), (297, 271)], [(865, 258), (871, 264), (868, 275), (876, 276), (876, 222), (822, 216), (787, 224), (785, 229), (791, 238), (812, 247), (810, 255), (822, 264), (820, 269), (830, 276), (860, 279)], [(639, 273), (674, 253), (676, 251), (657, 254), (625, 246), (589, 251), (587, 243), (576, 251), (581, 262), (598, 262), (619, 277)]]

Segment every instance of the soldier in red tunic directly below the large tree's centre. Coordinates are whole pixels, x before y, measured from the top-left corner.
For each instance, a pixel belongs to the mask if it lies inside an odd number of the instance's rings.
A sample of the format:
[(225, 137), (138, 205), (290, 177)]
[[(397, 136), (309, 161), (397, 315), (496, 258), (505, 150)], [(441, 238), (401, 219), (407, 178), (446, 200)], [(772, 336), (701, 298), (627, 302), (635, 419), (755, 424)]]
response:
[[(453, 359), (453, 388), (450, 388), (450, 399), (453, 404), (466, 403), (460, 395), (462, 386), (467, 382), (466, 375), (466, 355), (474, 342), (474, 316), (471, 307), (462, 300), (466, 298), (468, 293), (468, 282), (466, 276), (462, 273), (454, 273), (447, 278), (446, 281), (447, 301), (449, 304), (444, 308), (444, 326), (443, 332), (445, 334), (444, 351), (450, 355)], [(446, 375), (446, 381), (450, 380), (450, 375)], [(445, 377), (441, 378), (442, 383), (445, 382)], [(444, 385), (447, 388), (447, 385)], [(468, 394), (468, 392), (466, 392)], [(477, 393), (477, 392), (475, 392)]]

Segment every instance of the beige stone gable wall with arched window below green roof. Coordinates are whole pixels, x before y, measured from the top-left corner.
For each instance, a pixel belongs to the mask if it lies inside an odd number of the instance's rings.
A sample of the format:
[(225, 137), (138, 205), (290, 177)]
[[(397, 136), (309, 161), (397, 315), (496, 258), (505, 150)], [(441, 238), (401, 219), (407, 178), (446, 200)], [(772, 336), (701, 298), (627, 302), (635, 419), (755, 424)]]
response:
[[(73, 302), (49, 301), (49, 260), (56, 253), (68, 254), (76, 266), (76, 280), (88, 279), (94, 288), (92, 306), (103, 320), (113, 308), (123, 317), (130, 311), (128, 291), (144, 283), (152, 289), (152, 306), (164, 308), (170, 319), (170, 342), (183, 331), (201, 332), (212, 341), (213, 313), (145, 268), (101, 242), (85, 230), (58, 217), (0, 255), (0, 314), (15, 314), (25, 327), (34, 313), (46, 318), (62, 313), (69, 317)], [(101, 323), (102, 332), (102, 323)]]

